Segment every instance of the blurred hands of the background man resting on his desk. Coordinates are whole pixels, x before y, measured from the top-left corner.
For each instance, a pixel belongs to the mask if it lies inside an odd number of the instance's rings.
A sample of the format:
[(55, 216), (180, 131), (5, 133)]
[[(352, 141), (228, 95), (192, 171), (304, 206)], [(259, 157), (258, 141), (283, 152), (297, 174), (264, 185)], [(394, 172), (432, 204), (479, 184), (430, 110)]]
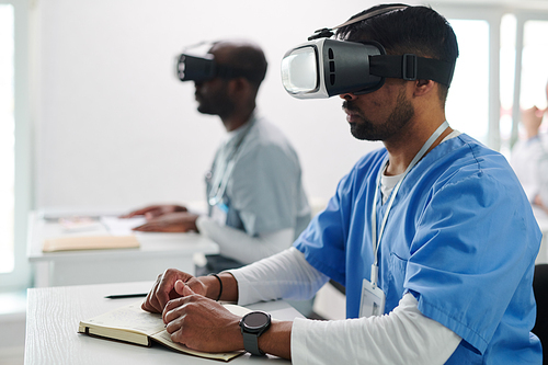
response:
[(189, 213), (180, 205), (151, 205), (130, 212), (121, 218), (145, 216), (147, 223), (135, 227), (134, 230), (144, 232), (187, 232), (197, 231), (198, 215)]

